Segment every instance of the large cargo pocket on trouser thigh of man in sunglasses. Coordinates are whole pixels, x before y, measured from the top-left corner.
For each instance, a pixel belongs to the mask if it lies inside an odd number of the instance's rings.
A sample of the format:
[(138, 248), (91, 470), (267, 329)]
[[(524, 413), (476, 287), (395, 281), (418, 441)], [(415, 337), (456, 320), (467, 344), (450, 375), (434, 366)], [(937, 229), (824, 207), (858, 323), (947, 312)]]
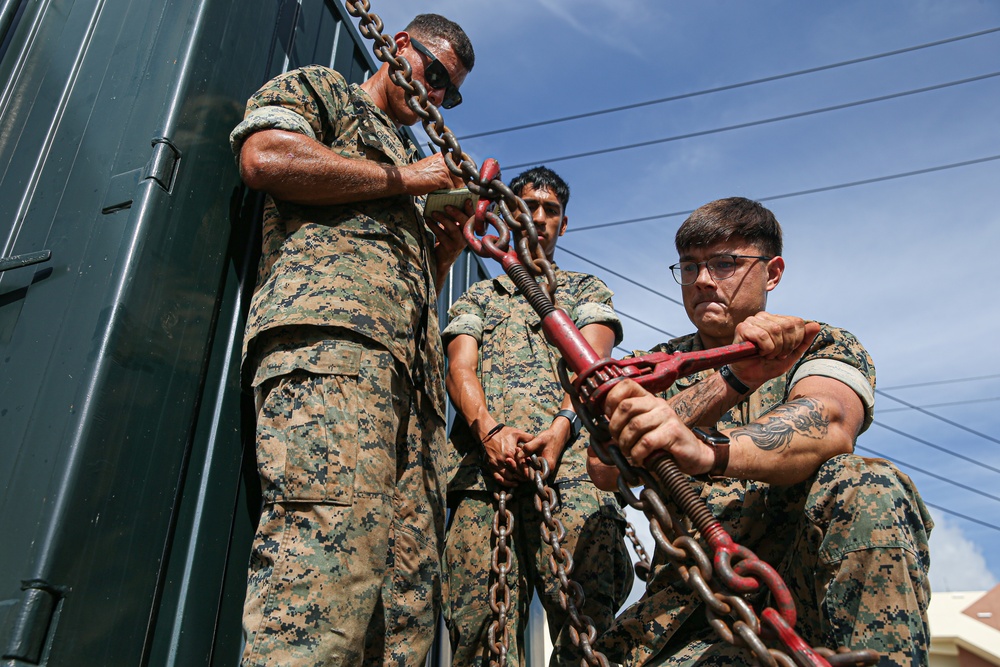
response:
[(331, 374), (295, 372), (268, 392), (257, 422), (265, 502), (353, 502), (360, 358), (359, 348)]

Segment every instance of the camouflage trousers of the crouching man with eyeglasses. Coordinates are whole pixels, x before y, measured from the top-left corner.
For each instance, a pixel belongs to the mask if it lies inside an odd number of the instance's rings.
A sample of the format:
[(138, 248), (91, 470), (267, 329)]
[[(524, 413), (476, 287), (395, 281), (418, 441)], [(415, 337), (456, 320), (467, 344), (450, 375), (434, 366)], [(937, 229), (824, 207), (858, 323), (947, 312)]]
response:
[[(757, 505), (764, 530), (733, 537), (769, 554), (765, 560), (795, 600), (803, 639), (874, 649), (881, 667), (927, 665), (933, 522), (909, 477), (888, 461), (845, 454), (812, 480), (769, 491)], [(753, 602), (758, 610), (770, 604)], [(630, 667), (756, 664), (748, 650), (715, 635), (670, 564), (657, 567), (646, 594), (619, 616), (599, 648)]]

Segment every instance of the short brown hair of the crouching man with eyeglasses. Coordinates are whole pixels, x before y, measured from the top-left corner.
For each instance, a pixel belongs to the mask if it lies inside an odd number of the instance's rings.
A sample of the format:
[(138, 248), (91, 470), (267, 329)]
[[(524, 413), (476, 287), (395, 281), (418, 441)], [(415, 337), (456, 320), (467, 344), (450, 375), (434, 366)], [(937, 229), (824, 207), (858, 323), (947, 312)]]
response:
[(742, 239), (770, 257), (781, 254), (781, 225), (774, 213), (744, 197), (717, 199), (700, 207), (677, 230), (674, 246), (683, 255), (731, 239)]

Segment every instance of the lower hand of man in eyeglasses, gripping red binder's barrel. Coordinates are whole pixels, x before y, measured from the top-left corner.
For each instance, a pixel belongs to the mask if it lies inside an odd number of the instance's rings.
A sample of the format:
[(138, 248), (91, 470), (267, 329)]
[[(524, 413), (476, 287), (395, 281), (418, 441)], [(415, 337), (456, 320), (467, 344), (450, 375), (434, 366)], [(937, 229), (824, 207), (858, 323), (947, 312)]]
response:
[(698, 439), (665, 400), (633, 380), (622, 380), (608, 392), (604, 414), (611, 437), (622, 453), (642, 464), (653, 452), (670, 454), (683, 472), (700, 475), (712, 469), (715, 453)]

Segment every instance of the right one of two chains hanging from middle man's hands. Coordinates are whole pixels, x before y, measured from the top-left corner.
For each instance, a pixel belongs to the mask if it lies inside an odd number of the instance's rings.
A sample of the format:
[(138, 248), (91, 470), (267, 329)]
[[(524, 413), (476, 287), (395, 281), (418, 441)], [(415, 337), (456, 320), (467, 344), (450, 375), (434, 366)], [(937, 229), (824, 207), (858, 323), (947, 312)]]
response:
[(588, 665), (609, 667), (607, 657), (593, 647), (597, 640), (594, 620), (580, 611), (585, 602), (583, 587), (570, 578), (573, 574), (573, 555), (562, 546), (566, 529), (562, 522), (552, 515), (556, 506), (556, 496), (552, 487), (545, 483), (545, 478), (549, 476), (548, 461), (535, 454), (532, 454), (528, 461), (531, 464), (532, 481), (535, 484), (535, 508), (542, 515), (542, 540), (552, 547), (549, 567), (559, 582), (559, 606), (569, 616), (570, 639), (583, 653), (583, 659)]

